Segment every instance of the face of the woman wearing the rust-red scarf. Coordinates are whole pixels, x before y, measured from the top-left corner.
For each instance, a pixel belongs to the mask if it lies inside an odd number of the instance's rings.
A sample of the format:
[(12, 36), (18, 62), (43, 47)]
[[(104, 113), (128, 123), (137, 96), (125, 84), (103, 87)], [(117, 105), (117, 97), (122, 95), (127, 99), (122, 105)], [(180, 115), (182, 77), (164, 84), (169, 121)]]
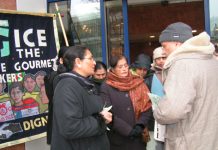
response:
[(125, 58), (118, 60), (116, 67), (113, 69), (114, 73), (120, 77), (126, 77), (129, 73), (129, 65)]

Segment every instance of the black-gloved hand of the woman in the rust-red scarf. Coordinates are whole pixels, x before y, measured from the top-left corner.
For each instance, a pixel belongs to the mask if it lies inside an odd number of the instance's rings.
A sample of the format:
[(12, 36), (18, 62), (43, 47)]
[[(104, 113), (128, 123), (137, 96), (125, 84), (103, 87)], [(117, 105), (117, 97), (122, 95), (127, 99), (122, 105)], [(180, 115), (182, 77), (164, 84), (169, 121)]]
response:
[(145, 128), (145, 127), (144, 127), (143, 124), (136, 124), (136, 125), (134, 125), (134, 127), (132, 128), (132, 130), (130, 131), (130, 133), (129, 133), (128, 136), (129, 136), (131, 139), (135, 139), (135, 138), (141, 137), (144, 128)]

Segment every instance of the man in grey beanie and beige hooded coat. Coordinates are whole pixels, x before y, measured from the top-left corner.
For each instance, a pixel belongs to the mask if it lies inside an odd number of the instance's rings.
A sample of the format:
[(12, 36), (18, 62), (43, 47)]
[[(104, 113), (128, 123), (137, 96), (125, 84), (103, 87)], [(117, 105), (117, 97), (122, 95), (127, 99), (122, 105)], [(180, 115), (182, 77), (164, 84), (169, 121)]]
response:
[(161, 32), (167, 54), (163, 69), (165, 96), (154, 118), (166, 125), (165, 150), (218, 149), (218, 61), (214, 45), (202, 32), (177, 22)]

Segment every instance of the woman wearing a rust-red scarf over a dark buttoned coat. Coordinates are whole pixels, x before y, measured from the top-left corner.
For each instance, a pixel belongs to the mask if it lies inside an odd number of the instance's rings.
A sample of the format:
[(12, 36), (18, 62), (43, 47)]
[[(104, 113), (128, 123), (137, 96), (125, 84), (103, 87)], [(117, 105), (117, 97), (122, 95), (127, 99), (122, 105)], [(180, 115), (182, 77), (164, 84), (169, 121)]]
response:
[(129, 72), (125, 56), (114, 56), (101, 96), (112, 105), (113, 122), (108, 137), (111, 150), (145, 150), (149, 140), (147, 124), (152, 115), (144, 80)]

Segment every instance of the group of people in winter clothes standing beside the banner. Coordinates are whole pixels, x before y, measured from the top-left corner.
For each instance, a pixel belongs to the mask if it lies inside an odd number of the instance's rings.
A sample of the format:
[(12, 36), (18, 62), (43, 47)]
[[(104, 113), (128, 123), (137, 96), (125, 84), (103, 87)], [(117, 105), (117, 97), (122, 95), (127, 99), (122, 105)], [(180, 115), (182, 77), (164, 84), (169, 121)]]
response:
[[(51, 149), (146, 150), (150, 140), (155, 150), (217, 149), (217, 46), (182, 22), (159, 42), (153, 63), (117, 55), (108, 68), (85, 46), (61, 48), (61, 71), (45, 77)], [(148, 93), (159, 97), (155, 105)]]

